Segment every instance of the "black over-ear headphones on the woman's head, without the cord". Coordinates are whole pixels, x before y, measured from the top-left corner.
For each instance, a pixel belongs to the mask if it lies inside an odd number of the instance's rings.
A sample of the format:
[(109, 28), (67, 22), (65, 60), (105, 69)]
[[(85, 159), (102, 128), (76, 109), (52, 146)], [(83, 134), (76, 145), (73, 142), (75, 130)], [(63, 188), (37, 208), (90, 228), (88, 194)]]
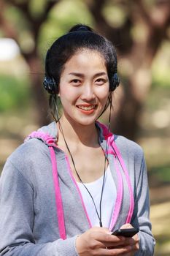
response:
[[(56, 83), (55, 79), (48, 74), (48, 69), (47, 69), (48, 55), (49, 55), (49, 50), (47, 50), (47, 55), (45, 58), (45, 79), (43, 81), (43, 85), (45, 87), (45, 90), (49, 94), (58, 94), (59, 93), (58, 84)], [(119, 84), (120, 84), (120, 79), (117, 76), (117, 72), (115, 72), (112, 75), (111, 80), (109, 81), (109, 91), (115, 91), (115, 89), (117, 88), (117, 86), (119, 86)]]

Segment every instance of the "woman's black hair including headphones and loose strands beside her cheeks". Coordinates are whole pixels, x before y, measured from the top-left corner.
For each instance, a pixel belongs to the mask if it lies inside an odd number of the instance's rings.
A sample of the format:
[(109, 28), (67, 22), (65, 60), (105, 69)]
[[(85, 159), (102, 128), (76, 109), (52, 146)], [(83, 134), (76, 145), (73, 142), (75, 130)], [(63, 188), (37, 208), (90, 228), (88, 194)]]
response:
[[(117, 77), (117, 55), (115, 47), (105, 37), (97, 34), (90, 26), (77, 24), (69, 30), (67, 34), (55, 40), (50, 49), (47, 50), (45, 59), (45, 80), (43, 82), (45, 89), (50, 94), (51, 115), (58, 121), (58, 90), (66, 61), (80, 50), (96, 50), (105, 60), (107, 75), (109, 78), (109, 91), (114, 91), (119, 85), (120, 80)], [(112, 94), (109, 94), (107, 103), (101, 115), (110, 105), (112, 108)], [(100, 116), (101, 116), (100, 115)], [(98, 116), (98, 118), (100, 117)]]

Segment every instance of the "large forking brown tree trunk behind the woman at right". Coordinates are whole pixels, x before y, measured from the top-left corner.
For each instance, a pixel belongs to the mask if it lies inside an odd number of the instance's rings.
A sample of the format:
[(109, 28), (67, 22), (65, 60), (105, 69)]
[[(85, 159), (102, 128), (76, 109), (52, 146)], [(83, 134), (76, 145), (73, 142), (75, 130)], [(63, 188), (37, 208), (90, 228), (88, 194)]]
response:
[[(152, 83), (152, 60), (161, 42), (167, 37), (166, 30), (170, 22), (169, 1), (156, 1), (152, 10), (147, 10), (147, 5), (142, 0), (125, 1), (128, 15), (125, 23), (118, 28), (110, 26), (104, 18), (102, 10), (106, 0), (86, 2), (96, 20), (96, 29), (116, 46), (118, 56), (121, 56), (118, 64), (123, 59), (128, 62), (123, 74), (128, 83), (123, 82), (123, 89), (115, 91), (115, 97), (119, 95), (119, 99), (113, 98), (115, 111), (112, 115), (111, 129), (117, 134), (135, 140), (142, 106)], [(141, 24), (144, 27), (144, 36), (140, 39), (132, 37), (132, 28)], [(118, 70), (120, 68), (118, 67)]]

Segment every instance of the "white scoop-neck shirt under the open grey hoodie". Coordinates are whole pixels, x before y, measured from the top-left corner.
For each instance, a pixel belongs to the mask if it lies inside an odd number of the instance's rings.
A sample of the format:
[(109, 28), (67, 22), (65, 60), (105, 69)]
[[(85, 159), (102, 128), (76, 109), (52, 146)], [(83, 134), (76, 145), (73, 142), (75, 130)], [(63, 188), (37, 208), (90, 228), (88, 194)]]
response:
[[(101, 176), (101, 178), (98, 178), (96, 181), (85, 183), (85, 187), (88, 188), (96, 204), (98, 215), (100, 212), (99, 208), (100, 208), (100, 200), (101, 200), (102, 183), (103, 183), (103, 176)], [(82, 194), (82, 199), (85, 203), (85, 208), (86, 208), (86, 211), (88, 212), (88, 217), (90, 219), (92, 227), (99, 226), (99, 219), (96, 214), (96, 209), (93, 204), (93, 200), (91, 199), (87, 189), (85, 189), (83, 184), (80, 182), (77, 182), (77, 184)], [(116, 196), (117, 196), (117, 192), (116, 192), (115, 182), (112, 178), (112, 173), (108, 165), (105, 173), (104, 192), (103, 192), (103, 197), (101, 202), (101, 221), (102, 221), (103, 227), (109, 228), (111, 218), (112, 218), (112, 211), (114, 210), (114, 207), (115, 207)]]

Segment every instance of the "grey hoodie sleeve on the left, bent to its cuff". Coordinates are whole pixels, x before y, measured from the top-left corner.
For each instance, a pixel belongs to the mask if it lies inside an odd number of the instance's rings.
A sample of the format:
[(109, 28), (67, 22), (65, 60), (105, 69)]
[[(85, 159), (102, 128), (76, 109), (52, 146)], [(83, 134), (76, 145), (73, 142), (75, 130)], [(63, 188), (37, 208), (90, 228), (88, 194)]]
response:
[(7, 160), (0, 179), (0, 256), (77, 256), (76, 236), (36, 244), (33, 229), (34, 188)]

